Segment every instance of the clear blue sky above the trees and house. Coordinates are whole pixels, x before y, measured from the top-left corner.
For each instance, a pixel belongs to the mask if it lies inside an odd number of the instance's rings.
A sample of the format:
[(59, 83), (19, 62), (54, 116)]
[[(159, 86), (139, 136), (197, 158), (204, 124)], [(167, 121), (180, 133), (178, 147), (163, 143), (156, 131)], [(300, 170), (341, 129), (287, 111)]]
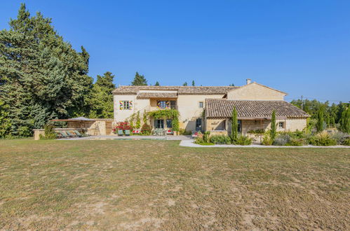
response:
[(41, 11), (74, 48), (90, 53), (90, 76), (128, 85), (245, 84), (304, 97), (350, 100), (350, 1), (2, 1), (0, 28), (21, 2)]

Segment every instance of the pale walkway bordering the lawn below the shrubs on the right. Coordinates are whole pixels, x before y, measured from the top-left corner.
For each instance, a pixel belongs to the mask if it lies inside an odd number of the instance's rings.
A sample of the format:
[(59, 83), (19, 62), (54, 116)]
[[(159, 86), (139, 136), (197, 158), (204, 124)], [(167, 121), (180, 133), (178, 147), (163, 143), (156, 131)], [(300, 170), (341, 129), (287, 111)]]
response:
[(234, 144), (215, 144), (209, 146), (203, 146), (199, 144), (194, 144), (194, 140), (182, 140), (180, 146), (192, 147), (192, 148), (350, 148), (350, 146), (264, 146), (260, 144), (252, 144), (247, 146), (234, 145)]

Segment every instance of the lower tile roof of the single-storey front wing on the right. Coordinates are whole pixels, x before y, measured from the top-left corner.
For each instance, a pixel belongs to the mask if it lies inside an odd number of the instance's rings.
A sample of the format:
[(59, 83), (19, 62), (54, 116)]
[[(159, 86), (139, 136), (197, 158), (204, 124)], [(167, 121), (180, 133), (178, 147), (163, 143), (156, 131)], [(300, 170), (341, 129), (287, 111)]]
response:
[(206, 116), (208, 118), (231, 118), (234, 106), (236, 106), (238, 118), (271, 118), (271, 113), (274, 110), (276, 111), (276, 117), (279, 118), (309, 117), (306, 112), (283, 100), (228, 99), (206, 99)]

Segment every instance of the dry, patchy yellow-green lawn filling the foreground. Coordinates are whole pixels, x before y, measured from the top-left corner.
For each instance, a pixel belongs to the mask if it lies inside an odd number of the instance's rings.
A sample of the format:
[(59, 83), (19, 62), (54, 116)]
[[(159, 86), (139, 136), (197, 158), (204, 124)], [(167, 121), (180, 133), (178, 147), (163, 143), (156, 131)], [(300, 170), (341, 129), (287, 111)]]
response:
[(350, 150), (0, 140), (0, 229), (349, 230)]

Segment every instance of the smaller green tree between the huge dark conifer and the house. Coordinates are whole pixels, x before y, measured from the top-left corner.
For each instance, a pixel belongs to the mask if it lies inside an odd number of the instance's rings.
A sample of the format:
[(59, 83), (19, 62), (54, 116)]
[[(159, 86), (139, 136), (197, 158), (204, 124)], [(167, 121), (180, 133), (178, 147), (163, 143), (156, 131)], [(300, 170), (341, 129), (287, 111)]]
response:
[(90, 97), (90, 118), (113, 118), (113, 95), (116, 88), (114, 75), (107, 71), (103, 76), (97, 76)]

